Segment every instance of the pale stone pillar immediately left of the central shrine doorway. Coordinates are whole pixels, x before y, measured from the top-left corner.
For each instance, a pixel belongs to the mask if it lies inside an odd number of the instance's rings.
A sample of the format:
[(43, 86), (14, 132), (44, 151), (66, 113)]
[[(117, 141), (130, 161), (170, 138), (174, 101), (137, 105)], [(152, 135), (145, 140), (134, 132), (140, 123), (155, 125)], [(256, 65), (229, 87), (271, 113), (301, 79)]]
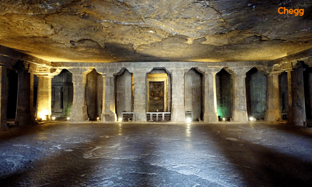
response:
[(146, 73), (142, 71), (134, 74), (134, 106), (133, 121), (146, 122)]

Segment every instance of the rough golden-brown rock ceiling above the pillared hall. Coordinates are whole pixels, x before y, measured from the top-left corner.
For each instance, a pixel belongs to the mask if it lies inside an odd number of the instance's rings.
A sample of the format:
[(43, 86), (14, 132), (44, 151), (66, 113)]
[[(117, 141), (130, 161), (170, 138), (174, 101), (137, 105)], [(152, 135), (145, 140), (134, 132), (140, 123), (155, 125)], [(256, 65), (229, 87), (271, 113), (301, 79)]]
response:
[(312, 47), (311, 12), (310, 0), (0, 0), (0, 44), (48, 61), (273, 60)]

